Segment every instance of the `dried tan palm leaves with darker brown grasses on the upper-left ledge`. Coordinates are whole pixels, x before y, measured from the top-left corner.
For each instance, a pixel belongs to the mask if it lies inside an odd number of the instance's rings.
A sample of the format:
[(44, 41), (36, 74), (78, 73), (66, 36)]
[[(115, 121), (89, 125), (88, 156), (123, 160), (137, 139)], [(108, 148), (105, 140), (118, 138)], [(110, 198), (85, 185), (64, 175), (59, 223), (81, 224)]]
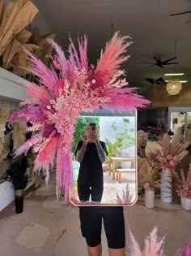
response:
[(40, 36), (38, 28), (30, 25), (38, 13), (36, 6), (28, 0), (17, 0), (4, 5), (0, 1), (0, 67), (26, 78), (28, 59), (24, 49), (33, 51), (37, 57), (46, 61), (46, 55), (53, 48), (47, 43), (47, 38), (54, 34)]

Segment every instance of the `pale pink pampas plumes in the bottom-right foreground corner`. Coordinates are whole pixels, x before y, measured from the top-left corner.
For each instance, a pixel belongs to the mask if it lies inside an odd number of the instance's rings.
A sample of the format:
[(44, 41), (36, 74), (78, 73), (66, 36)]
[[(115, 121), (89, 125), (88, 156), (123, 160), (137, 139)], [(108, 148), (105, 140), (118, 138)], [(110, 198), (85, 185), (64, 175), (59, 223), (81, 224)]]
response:
[[(158, 228), (154, 228), (149, 236), (145, 239), (144, 249), (141, 249), (138, 242), (135, 240), (134, 235), (129, 231), (130, 236), (130, 253), (129, 256), (168, 256), (164, 253), (163, 244), (164, 237), (159, 238), (157, 236)], [(190, 256), (191, 255), (191, 243), (185, 244), (182, 249), (178, 249), (174, 256)]]

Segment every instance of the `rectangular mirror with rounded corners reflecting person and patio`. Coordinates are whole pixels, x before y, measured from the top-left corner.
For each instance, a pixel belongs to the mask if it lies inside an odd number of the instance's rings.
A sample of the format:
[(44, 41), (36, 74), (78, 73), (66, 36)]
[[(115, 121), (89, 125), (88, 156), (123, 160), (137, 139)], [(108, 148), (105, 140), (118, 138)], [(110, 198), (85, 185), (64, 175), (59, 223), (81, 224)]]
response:
[[(87, 143), (83, 158), (85, 163), (83, 161), (79, 163), (78, 157), (75, 158), (82, 148), (82, 137), (87, 124), (90, 123), (96, 123), (98, 140), (101, 141), (100, 145), (107, 154), (104, 163), (100, 163), (101, 171), (99, 165), (97, 167), (97, 162), (94, 162), (94, 159), (99, 158), (98, 146), (94, 142)], [(130, 206), (136, 202), (138, 190), (136, 124), (136, 111), (118, 113), (104, 109), (83, 113), (77, 118), (71, 149), (74, 156), (71, 203), (75, 206)]]

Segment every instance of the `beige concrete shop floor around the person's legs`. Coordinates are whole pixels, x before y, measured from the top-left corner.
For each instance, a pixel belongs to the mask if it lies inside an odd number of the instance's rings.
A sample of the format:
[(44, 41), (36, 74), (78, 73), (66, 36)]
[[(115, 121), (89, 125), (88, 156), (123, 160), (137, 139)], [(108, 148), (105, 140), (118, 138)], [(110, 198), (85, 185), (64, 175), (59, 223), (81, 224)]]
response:
[[(169, 205), (156, 199), (155, 208), (149, 210), (141, 197), (136, 205), (124, 209), (126, 255), (129, 253), (129, 228), (143, 245), (145, 237), (157, 226), (159, 236), (166, 236), (164, 250), (168, 256), (191, 241), (191, 211), (183, 210), (179, 202)], [(102, 238), (103, 256), (107, 256), (104, 230)], [(43, 183), (39, 189), (27, 193), (22, 214), (15, 214), (14, 203), (0, 212), (0, 255), (87, 255), (79, 228), (79, 208), (70, 204), (64, 206), (62, 198), (56, 202), (53, 179), (48, 187)]]

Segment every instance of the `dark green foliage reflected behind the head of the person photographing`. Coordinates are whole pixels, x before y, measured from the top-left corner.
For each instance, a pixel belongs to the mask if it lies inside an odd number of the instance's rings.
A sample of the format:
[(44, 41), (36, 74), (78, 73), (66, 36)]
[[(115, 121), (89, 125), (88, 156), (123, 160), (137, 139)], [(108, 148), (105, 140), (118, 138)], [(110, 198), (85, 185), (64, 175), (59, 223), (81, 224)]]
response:
[(77, 124), (75, 124), (74, 141), (71, 145), (71, 151), (74, 153), (75, 147), (78, 141), (82, 140), (83, 134), (87, 128), (87, 124), (94, 122), (100, 129), (100, 117), (78, 117), (76, 118)]

